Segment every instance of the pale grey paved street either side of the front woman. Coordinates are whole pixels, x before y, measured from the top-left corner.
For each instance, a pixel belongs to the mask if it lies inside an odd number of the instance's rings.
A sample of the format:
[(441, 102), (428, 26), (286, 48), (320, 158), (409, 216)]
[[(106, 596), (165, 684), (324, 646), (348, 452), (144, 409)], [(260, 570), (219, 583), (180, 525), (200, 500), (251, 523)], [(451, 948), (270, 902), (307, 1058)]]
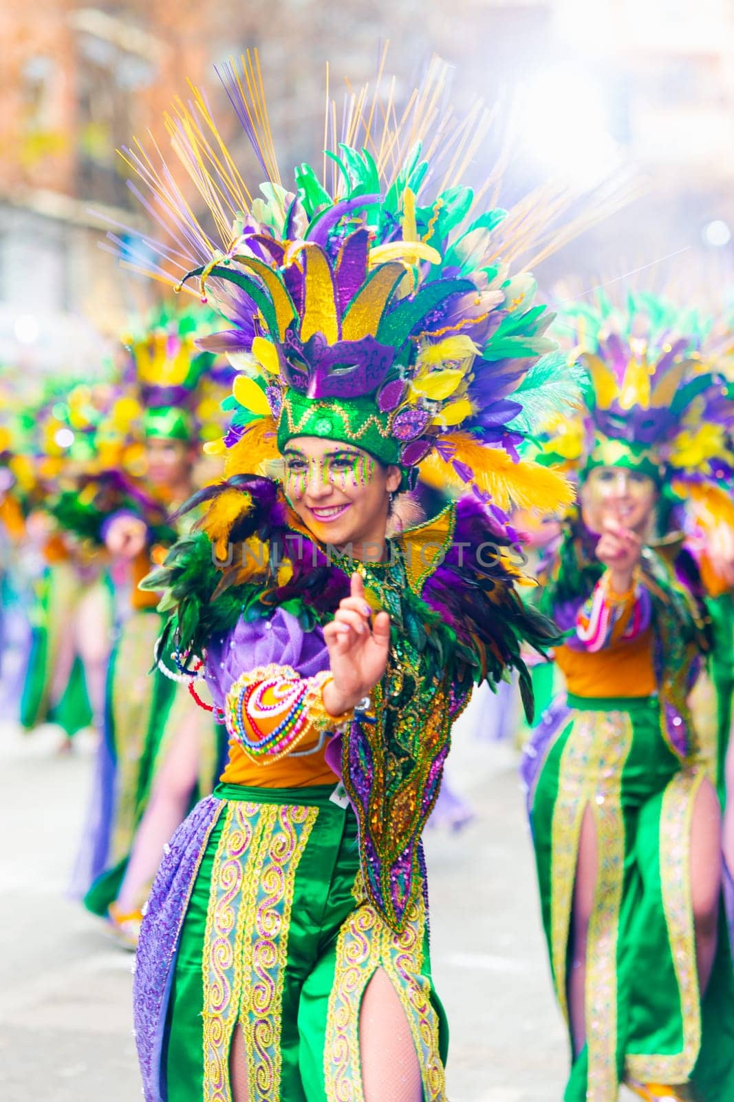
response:
[[(0, 726), (0, 1098), (132, 1102), (132, 959), (64, 896), (91, 758), (54, 754), (55, 737), (48, 728), (21, 739)], [(434, 968), (452, 1031), (450, 1098), (559, 1102), (565, 1039), (514, 753), (459, 747), (453, 776), (476, 819), (428, 840)]]

